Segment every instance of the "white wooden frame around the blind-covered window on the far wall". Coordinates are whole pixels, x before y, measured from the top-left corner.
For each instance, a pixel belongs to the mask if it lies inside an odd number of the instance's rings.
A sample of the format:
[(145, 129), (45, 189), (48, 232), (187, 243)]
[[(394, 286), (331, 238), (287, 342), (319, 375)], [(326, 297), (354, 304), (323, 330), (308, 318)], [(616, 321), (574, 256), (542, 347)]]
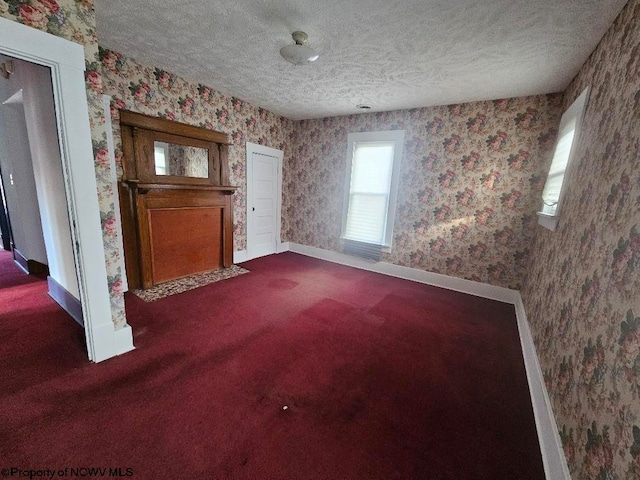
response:
[(351, 194), (351, 173), (353, 168), (353, 156), (358, 143), (394, 143), (393, 167), (391, 171), (391, 185), (389, 189), (389, 202), (387, 205), (387, 218), (385, 222), (385, 234), (382, 251), (390, 252), (393, 242), (393, 224), (395, 221), (396, 203), (398, 197), (398, 185), (400, 183), (400, 163), (404, 148), (404, 130), (389, 130), (382, 132), (350, 133), (347, 137), (347, 168), (345, 174), (344, 202), (342, 210), (342, 230), (340, 237), (343, 240), (354, 240), (345, 236), (347, 227), (347, 215), (349, 213), (349, 199)]

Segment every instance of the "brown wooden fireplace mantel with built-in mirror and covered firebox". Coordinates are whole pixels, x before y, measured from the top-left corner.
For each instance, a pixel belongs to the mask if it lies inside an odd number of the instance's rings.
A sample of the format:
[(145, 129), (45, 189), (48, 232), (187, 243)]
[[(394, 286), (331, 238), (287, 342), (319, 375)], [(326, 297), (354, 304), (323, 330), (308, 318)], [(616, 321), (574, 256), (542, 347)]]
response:
[(150, 288), (233, 262), (228, 136), (120, 112), (119, 183), (129, 287)]

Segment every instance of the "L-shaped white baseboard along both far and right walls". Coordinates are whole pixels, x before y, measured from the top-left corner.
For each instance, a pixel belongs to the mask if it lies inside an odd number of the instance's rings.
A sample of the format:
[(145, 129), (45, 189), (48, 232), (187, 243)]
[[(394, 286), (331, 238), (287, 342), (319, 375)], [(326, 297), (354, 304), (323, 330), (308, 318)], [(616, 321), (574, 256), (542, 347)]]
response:
[(551, 408), (549, 393), (544, 383), (538, 354), (536, 353), (519, 291), (385, 262), (373, 262), (297, 243), (289, 243), (288, 245), (290, 251), (308, 257), (514, 305), (545, 476), (547, 480), (571, 480), (560, 434), (553, 409)]

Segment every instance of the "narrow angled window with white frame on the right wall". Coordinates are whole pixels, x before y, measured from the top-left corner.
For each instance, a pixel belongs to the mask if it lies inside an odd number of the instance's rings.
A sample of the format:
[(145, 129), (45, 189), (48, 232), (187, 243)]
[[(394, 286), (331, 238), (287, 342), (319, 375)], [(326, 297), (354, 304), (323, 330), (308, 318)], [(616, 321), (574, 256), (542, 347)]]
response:
[(565, 173), (580, 138), (580, 125), (588, 99), (589, 87), (584, 89), (560, 120), (558, 141), (542, 192), (542, 208), (538, 212), (538, 223), (549, 230), (555, 230), (560, 221), (562, 199), (566, 190)]

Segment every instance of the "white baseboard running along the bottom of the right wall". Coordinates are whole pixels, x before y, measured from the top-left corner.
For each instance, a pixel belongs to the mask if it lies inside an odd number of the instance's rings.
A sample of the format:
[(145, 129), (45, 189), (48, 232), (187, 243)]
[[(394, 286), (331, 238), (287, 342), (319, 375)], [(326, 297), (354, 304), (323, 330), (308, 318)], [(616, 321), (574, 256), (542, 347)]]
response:
[(567, 459), (562, 449), (562, 441), (558, 433), (556, 419), (551, 408), (551, 400), (544, 383), (540, 361), (536, 353), (533, 336), (527, 321), (527, 314), (524, 310), (522, 297), (518, 293), (515, 303), (516, 319), (518, 321), (518, 331), (520, 332), (520, 343), (522, 345), (522, 355), (527, 371), (527, 381), (529, 382), (529, 392), (531, 403), (533, 404), (533, 415), (536, 420), (538, 430), (538, 441), (540, 442), (540, 452), (542, 453), (542, 463), (547, 479), (551, 480), (571, 480)]

